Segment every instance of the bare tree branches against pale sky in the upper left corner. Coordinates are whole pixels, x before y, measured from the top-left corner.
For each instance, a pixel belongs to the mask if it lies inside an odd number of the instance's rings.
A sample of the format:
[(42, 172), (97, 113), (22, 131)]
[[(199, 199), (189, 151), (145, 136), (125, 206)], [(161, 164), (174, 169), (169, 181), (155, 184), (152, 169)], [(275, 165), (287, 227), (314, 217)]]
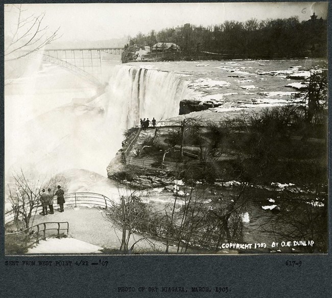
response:
[(45, 45), (59, 38), (59, 29), (49, 31), (43, 25), (45, 13), (27, 16), (22, 5), (6, 5), (7, 11), (15, 14), (15, 20), (8, 25), (5, 36), (5, 61), (25, 57), (42, 49)]

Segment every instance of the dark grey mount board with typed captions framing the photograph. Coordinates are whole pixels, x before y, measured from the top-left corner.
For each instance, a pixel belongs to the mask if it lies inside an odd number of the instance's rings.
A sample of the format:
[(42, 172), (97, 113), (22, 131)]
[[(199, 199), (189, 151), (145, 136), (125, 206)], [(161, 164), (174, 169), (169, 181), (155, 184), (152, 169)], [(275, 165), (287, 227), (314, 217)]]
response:
[[(21, 1), (5, 1), (4, 4)], [(172, 1), (172, 3), (187, 1)], [(207, 1), (195, 1), (207, 2)], [(225, 1), (251, 2), (251, 1)], [(255, 1), (258, 2), (258, 1)], [(269, 2), (269, 1), (260, 1)], [(273, 1), (277, 2), (277, 1)], [(310, 1), (282, 1), (310, 2)], [(331, 0), (328, 2), (328, 19), (332, 18)], [(40, 3), (23, 1), (21, 3)], [(90, 1), (43, 1), (42, 3), (134, 3), (90, 2)], [(162, 1), (141, 1), (135, 3), (163, 3)], [(189, 3), (189, 1), (188, 1)], [(1, 12), (4, 22), (4, 6)], [(2, 27), (3, 28), (3, 27)], [(332, 40), (332, 23), (329, 22), (328, 41)], [(4, 41), (4, 32), (1, 30)], [(3, 47), (2, 47), (2, 51)], [(2, 52), (3, 53), (3, 52)], [(328, 62), (332, 60), (332, 46), (328, 42)], [(1, 58), (4, 70), (4, 55)], [(328, 64), (329, 64), (328, 63)], [(328, 65), (329, 66), (329, 65)], [(328, 84), (332, 86), (332, 76), (328, 70)], [(0, 72), (4, 82), (4, 71)], [(4, 86), (2, 85), (2, 99)], [(331, 91), (328, 91), (328, 105)], [(4, 156), (4, 100), (1, 101), (2, 142)], [(302, 254), (244, 254), (244, 255), (32, 255), (5, 256), (4, 248), (4, 204), (0, 204), (1, 238), (0, 285), (6, 297), (219, 297), (229, 298), (273, 298), (273, 297), (322, 297), (331, 296), (331, 157), (330, 137), (332, 112), (328, 108), (328, 253), (317, 255)], [(4, 157), (2, 158), (4, 169)], [(4, 194), (4, 171), (1, 172), (2, 193)], [(3, 198), (4, 200), (4, 198)], [(15, 265), (15, 262), (18, 262)], [(44, 265), (32, 265), (31, 261)], [(91, 265), (107, 261), (107, 266)], [(301, 266), (289, 262), (301, 262)], [(27, 264), (22, 264), (27, 262)], [(52, 263), (46, 263), (52, 262)], [(58, 263), (57, 263), (58, 262)], [(70, 263), (72, 262), (72, 263)], [(85, 265), (87, 262), (88, 265)], [(29, 264), (30, 263), (30, 264)], [(294, 263), (294, 264), (295, 264)], [(57, 265), (56, 265), (57, 264)], [(292, 264), (292, 263), (291, 263)], [(45, 280), (47, 282), (45, 282)], [(149, 288), (158, 291), (149, 291)], [(161, 288), (167, 290), (161, 292)], [(192, 292), (193, 287), (202, 291)], [(127, 290), (125, 290), (127, 288)], [(130, 290), (131, 288), (131, 290)], [(132, 289), (135, 289), (134, 291)], [(143, 289), (144, 288), (144, 289)], [(177, 288), (177, 291), (175, 289)], [(180, 289), (181, 288), (181, 289)], [(182, 291), (182, 288), (185, 290)], [(209, 291), (203, 291), (208, 288)], [(220, 288), (220, 292), (217, 289)], [(227, 292), (226, 292), (227, 288)], [(170, 289), (170, 290), (169, 290)], [(172, 290), (174, 289), (174, 290)], [(225, 290), (224, 290), (225, 289)], [(47, 294), (46, 294), (47, 293)]]

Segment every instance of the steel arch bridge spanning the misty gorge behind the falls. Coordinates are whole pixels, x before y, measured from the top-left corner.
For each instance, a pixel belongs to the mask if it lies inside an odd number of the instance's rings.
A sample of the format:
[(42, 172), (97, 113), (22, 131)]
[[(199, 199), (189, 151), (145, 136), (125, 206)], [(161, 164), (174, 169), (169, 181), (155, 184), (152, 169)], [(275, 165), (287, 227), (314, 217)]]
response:
[(123, 48), (50, 49), (44, 50), (42, 54), (33, 52), (27, 57), (41, 56), (42, 61), (63, 67), (94, 84), (102, 85), (102, 52), (121, 55)]

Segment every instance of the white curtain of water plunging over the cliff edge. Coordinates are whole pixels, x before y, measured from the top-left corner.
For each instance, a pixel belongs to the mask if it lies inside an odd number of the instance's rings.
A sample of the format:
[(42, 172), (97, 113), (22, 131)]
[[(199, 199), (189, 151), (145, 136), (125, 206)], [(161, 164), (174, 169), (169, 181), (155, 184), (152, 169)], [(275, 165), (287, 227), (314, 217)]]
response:
[(191, 93), (178, 74), (117, 65), (109, 81), (109, 108), (121, 113), (126, 129), (139, 124), (140, 118), (159, 121), (176, 116), (180, 100)]

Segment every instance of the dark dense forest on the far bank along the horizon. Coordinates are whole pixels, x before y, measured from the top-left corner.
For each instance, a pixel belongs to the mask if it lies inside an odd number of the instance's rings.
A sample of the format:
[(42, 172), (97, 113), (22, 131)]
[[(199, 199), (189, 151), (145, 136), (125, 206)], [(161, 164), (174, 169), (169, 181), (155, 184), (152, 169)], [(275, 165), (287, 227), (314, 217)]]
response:
[(225, 21), (207, 28), (185, 24), (129, 38), (129, 44), (137, 47), (151, 47), (156, 42), (176, 43), (183, 56), (204, 53), (230, 58), (326, 57), (327, 20), (314, 13), (311, 19), (302, 22), (291, 17)]

